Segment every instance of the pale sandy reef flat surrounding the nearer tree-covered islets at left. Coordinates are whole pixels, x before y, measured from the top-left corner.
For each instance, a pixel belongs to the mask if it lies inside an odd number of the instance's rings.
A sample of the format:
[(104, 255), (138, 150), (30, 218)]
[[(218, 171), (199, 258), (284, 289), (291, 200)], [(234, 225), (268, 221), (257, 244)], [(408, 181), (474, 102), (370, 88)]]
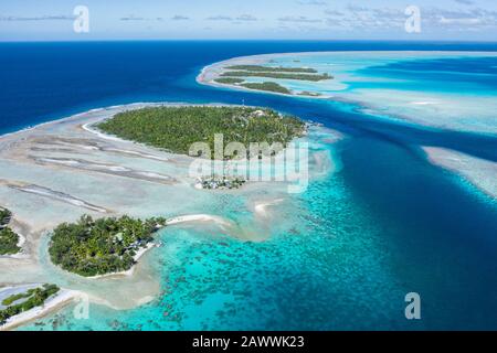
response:
[[(251, 239), (252, 233), (208, 213), (215, 199), (211, 192), (194, 189), (195, 180), (189, 175), (190, 157), (102, 136), (92, 129), (120, 111), (184, 105), (137, 103), (92, 109), (0, 136), (0, 204), (12, 211), (12, 222), (20, 226), (17, 231), (25, 240), (25, 256), (0, 258), (0, 287), (46, 282), (67, 291), (43, 309), (17, 318), (8, 328), (57, 310), (75, 293), (85, 293), (92, 302), (116, 310), (133, 309), (159, 296), (160, 278), (142, 259), (152, 246), (137, 254), (140, 261), (130, 271), (96, 279), (82, 278), (50, 263), (46, 246), (51, 229), (83, 214), (163, 216), (168, 226), (209, 223), (234, 237)], [(257, 189), (257, 184), (247, 185), (232, 193), (248, 194)]]

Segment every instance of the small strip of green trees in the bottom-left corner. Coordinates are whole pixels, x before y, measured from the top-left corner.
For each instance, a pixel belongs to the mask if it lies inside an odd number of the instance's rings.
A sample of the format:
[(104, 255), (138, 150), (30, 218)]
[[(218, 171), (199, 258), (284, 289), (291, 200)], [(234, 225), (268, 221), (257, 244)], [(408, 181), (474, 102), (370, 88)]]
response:
[[(8, 319), (18, 315), (24, 311), (31, 310), (44, 304), (45, 300), (56, 295), (60, 288), (55, 285), (43, 285), (43, 287), (28, 290), (25, 293), (11, 296), (2, 301), (6, 309), (0, 310), (0, 325), (4, 324)], [(13, 302), (25, 299), (24, 301), (11, 306)], [(9, 307), (10, 306), (10, 307)]]

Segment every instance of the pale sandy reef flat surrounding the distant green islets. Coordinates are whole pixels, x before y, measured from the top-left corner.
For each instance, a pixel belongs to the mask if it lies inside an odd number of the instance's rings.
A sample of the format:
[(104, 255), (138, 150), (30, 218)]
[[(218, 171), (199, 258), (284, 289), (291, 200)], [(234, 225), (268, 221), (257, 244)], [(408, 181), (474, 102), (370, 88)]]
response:
[[(399, 53), (402, 55), (399, 56)], [(230, 65), (271, 65), (271, 61), (296, 57), (305, 58), (307, 56), (330, 56), (330, 61), (336, 58), (338, 66), (349, 68), (336, 68), (330, 67), (334, 64), (324, 65), (319, 67), (316, 64), (317, 69), (325, 71), (334, 76), (334, 79), (324, 83), (309, 82), (305, 85), (290, 83), (292, 79), (276, 79), (267, 78), (266, 81), (275, 82), (283, 85), (285, 88), (293, 90), (292, 94), (282, 94), (258, 89), (250, 89), (236, 84), (220, 84), (214, 79), (225, 71)], [(381, 61), (381, 56), (396, 57), (396, 60), (405, 58), (412, 55), (413, 58), (423, 57), (457, 57), (457, 56), (495, 56), (496, 53), (489, 52), (443, 52), (443, 51), (401, 51), (401, 52), (303, 52), (303, 53), (276, 53), (276, 54), (262, 54), (251, 56), (240, 56), (225, 60), (222, 62), (213, 63), (205, 66), (201, 74), (198, 75), (197, 82), (202, 85), (208, 85), (224, 89), (235, 89), (242, 92), (251, 92), (257, 94), (281, 95), (287, 97), (294, 97), (299, 99), (327, 99), (330, 101), (343, 101), (353, 106), (357, 106), (357, 110), (361, 114), (372, 115), (379, 119), (385, 119), (388, 121), (399, 121), (404, 124), (414, 124), (417, 126), (425, 126), (430, 128), (438, 128), (442, 130), (456, 130), (456, 131), (469, 131), (474, 133), (495, 136), (496, 130), (496, 117), (491, 114), (497, 109), (497, 100), (493, 95), (487, 96), (467, 96), (465, 93), (459, 95), (444, 95), (442, 93), (434, 92), (421, 92), (416, 89), (393, 89), (388, 87), (374, 87), (374, 88), (353, 88), (350, 87), (350, 83), (361, 82), (362, 79), (373, 79), (367, 75), (356, 73), (356, 68), (360, 69), (366, 64), (357, 62), (357, 58), (369, 55), (371, 58), (378, 57), (378, 65), (389, 63), (389, 61)], [(368, 56), (368, 58), (370, 58)], [(343, 57), (347, 57), (346, 60)], [(350, 60), (352, 57), (352, 60)], [(348, 63), (348, 64), (347, 64)], [(308, 64), (308, 63), (307, 63)], [(362, 65), (362, 66), (361, 66)], [(305, 65), (313, 66), (311, 64)], [(356, 68), (352, 68), (356, 67)], [(251, 82), (253, 77), (247, 77), (247, 82)], [(258, 77), (256, 77), (258, 78)], [(256, 81), (258, 82), (258, 81)], [(310, 92), (311, 95), (303, 93)], [(300, 93), (300, 94), (299, 94)], [(314, 94), (318, 94), (315, 96)], [(487, 109), (480, 109), (479, 107), (488, 107)], [(433, 116), (437, 116), (438, 119), (433, 119)], [(465, 122), (465, 117), (472, 116), (475, 124)]]

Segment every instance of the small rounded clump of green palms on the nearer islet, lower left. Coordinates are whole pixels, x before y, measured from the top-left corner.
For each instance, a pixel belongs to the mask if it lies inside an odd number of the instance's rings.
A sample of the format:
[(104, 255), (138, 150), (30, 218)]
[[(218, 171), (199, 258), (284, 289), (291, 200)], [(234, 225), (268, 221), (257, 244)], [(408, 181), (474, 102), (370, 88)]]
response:
[(77, 223), (63, 223), (53, 232), (49, 254), (63, 269), (93, 277), (130, 269), (135, 255), (154, 240), (152, 234), (166, 220), (93, 220), (82, 216)]

